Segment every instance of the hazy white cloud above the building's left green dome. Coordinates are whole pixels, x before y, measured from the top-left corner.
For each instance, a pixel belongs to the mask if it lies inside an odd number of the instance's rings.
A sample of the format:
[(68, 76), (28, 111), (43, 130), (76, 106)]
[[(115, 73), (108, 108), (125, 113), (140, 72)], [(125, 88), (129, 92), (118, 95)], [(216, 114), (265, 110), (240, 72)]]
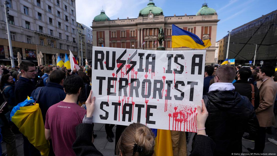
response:
[(110, 19), (136, 18), (139, 11), (147, 6), (148, 0), (76, 0), (76, 20), (91, 26), (93, 18), (100, 14), (102, 7)]

